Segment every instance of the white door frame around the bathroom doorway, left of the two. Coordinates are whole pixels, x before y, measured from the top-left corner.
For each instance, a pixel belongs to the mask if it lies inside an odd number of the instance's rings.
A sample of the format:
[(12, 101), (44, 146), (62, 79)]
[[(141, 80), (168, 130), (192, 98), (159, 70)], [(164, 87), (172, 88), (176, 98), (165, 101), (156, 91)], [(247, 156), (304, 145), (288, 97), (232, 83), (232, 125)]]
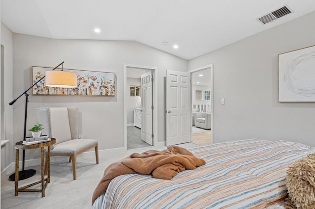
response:
[(127, 68), (140, 68), (152, 70), (153, 72), (153, 146), (158, 146), (158, 68), (144, 65), (126, 64), (124, 63), (124, 150), (127, 150)]

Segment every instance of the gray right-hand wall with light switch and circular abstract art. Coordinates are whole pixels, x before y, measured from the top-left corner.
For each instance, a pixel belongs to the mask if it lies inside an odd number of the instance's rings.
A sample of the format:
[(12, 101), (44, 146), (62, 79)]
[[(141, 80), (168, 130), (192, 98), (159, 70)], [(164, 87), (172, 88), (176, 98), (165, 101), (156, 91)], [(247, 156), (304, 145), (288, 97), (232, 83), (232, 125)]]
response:
[(312, 12), (189, 60), (189, 70), (213, 63), (214, 142), (255, 137), (315, 146), (315, 103), (278, 102), (277, 61), (315, 45), (314, 20)]

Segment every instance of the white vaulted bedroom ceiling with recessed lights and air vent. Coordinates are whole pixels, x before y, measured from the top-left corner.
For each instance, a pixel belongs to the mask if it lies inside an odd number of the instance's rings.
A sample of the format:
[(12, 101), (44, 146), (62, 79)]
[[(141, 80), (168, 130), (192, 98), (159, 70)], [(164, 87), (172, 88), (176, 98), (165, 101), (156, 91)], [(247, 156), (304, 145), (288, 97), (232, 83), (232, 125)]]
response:
[[(284, 5), (293, 12), (257, 21)], [(1, 22), (12, 32), (131, 40), (187, 60), (312, 11), (315, 0), (1, 0)]]

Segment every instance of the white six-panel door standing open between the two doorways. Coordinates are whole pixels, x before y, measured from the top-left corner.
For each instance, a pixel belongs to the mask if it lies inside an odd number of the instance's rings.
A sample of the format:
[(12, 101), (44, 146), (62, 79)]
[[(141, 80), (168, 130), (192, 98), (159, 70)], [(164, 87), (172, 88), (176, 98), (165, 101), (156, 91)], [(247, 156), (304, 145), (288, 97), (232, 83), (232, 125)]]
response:
[(166, 145), (190, 142), (190, 73), (167, 71)]

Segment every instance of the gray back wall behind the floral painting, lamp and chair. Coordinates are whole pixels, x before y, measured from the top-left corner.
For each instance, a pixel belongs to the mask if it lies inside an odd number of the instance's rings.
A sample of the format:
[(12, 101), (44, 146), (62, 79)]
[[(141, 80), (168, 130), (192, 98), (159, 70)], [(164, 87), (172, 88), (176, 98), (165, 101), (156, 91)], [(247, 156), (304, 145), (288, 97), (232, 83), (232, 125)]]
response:
[[(28, 125), (37, 123), (36, 107), (78, 106), (84, 138), (98, 140), (99, 150), (124, 147), (124, 63), (158, 68), (158, 141), (165, 141), (166, 70), (187, 71), (188, 61), (134, 41), (49, 39), (13, 33), (13, 95), (31, 85), (31, 67), (55, 67), (116, 73), (115, 97), (32, 96)], [(30, 91), (31, 94), (31, 91)], [(24, 98), (14, 104), (14, 140), (23, 136)], [(28, 132), (28, 134), (31, 134)], [(39, 158), (39, 151), (26, 155)]]

